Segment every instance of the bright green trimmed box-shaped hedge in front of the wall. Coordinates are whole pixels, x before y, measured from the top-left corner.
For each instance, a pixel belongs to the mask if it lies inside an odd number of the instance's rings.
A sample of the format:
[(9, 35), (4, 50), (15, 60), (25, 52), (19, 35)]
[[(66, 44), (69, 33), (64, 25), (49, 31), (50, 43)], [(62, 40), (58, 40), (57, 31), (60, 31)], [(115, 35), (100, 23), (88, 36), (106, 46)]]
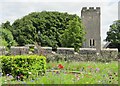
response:
[(0, 56), (2, 72), (16, 79), (34, 78), (46, 71), (46, 57), (38, 55)]

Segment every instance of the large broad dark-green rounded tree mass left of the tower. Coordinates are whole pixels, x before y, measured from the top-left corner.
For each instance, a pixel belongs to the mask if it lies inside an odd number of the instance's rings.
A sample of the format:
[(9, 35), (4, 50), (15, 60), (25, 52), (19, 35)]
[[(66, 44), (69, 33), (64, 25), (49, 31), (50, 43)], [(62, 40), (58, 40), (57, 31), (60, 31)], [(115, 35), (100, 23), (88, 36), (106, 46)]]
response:
[[(77, 19), (77, 21), (74, 18)], [(73, 25), (71, 23), (75, 23), (75, 30), (73, 30), (74, 37), (80, 38), (79, 40), (76, 39), (76, 41), (81, 42), (83, 39), (83, 34), (81, 33), (83, 31), (81, 19), (77, 15), (67, 13), (46, 11), (33, 12), (21, 19), (17, 19), (12, 24), (11, 31), (19, 45), (38, 42), (41, 46), (50, 46), (53, 48), (58, 46), (67, 47), (67, 45), (62, 44), (61, 40), (63, 39), (61, 39), (61, 35), (64, 34), (66, 29), (69, 30), (70, 25)], [(76, 31), (80, 31), (80, 37), (78, 36), (78, 32), (75, 33)], [(71, 45), (72, 44), (73, 43), (71, 43)], [(72, 46), (74, 46), (74, 44)]]

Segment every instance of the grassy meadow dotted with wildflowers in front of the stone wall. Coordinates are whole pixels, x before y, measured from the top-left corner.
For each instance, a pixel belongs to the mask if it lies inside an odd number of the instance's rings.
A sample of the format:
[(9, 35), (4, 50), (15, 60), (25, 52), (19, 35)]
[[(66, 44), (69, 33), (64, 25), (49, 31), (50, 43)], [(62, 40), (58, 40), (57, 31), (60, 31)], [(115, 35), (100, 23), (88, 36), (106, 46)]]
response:
[[(62, 64), (63, 69), (58, 65)], [(45, 75), (25, 81), (3, 76), (2, 84), (118, 84), (118, 62), (49, 62)], [(51, 72), (50, 72), (51, 71)]]

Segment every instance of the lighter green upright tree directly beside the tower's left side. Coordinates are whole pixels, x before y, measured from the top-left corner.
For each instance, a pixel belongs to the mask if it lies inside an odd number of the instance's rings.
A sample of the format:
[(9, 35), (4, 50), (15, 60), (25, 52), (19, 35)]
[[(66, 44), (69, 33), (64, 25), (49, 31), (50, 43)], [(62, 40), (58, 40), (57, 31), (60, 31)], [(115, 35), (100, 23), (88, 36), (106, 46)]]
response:
[(69, 21), (67, 29), (61, 35), (61, 44), (66, 47), (74, 47), (74, 50), (78, 52), (84, 41), (84, 34), (81, 21), (74, 18)]

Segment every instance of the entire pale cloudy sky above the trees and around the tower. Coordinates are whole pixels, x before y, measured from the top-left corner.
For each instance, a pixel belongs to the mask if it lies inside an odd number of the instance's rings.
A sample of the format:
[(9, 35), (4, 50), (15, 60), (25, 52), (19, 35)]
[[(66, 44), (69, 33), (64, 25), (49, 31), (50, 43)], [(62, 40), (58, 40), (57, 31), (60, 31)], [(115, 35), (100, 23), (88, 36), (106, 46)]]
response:
[[(81, 17), (82, 7), (101, 7), (101, 42), (106, 38), (109, 26), (118, 20), (120, 0), (0, 0), (0, 24), (11, 24), (31, 12), (59, 11)], [(97, 34), (96, 34), (97, 35)]]

